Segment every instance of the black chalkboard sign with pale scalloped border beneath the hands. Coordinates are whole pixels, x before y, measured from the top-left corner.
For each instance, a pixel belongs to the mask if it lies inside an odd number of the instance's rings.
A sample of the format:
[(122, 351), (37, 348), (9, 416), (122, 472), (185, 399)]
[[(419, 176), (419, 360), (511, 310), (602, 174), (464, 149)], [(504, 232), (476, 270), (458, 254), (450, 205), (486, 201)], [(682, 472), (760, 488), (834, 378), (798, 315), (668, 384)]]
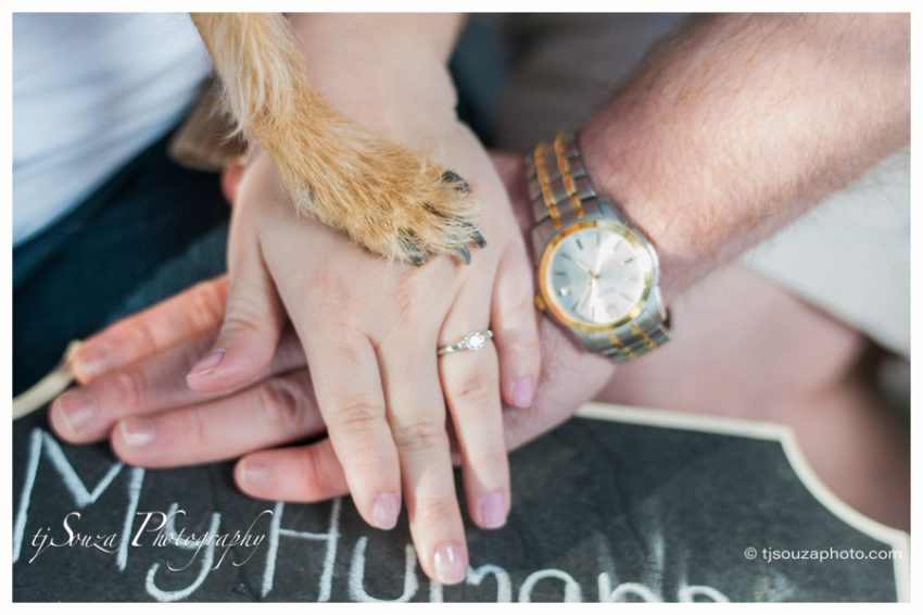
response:
[[(510, 460), (507, 526), (468, 524), (464, 583), (406, 518), (258, 502), (228, 464), (146, 470), (14, 427), (15, 601), (895, 601), (907, 536), (810, 474), (775, 426), (591, 404)], [(460, 495), (460, 494), (459, 494)]]

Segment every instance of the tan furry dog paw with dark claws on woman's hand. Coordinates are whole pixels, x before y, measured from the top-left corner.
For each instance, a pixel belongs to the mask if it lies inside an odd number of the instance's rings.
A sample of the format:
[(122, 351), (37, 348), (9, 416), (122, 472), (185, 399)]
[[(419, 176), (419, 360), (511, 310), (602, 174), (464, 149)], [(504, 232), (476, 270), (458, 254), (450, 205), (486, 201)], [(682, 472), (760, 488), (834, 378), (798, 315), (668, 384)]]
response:
[(299, 211), (391, 260), (419, 266), (450, 254), (469, 264), (471, 249), (486, 244), (469, 184), (407, 148), (341, 128), (274, 156)]

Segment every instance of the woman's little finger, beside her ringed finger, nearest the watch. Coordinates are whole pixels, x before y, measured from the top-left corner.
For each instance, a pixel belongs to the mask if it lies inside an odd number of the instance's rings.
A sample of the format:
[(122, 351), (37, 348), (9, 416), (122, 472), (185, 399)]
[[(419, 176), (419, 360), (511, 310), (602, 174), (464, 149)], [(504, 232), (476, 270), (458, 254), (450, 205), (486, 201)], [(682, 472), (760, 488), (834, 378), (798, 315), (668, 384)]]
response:
[(500, 356), (503, 399), (514, 407), (529, 407), (542, 368), (542, 346), (532, 271), (524, 250), (507, 250), (501, 260), (494, 280), (491, 325)]

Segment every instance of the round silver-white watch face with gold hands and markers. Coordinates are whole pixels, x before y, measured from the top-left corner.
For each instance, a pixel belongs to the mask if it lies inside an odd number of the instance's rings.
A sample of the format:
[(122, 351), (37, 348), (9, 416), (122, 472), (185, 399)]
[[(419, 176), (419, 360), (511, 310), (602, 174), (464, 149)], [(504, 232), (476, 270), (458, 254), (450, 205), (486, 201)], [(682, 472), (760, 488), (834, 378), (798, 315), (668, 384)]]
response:
[(542, 293), (570, 326), (603, 330), (636, 316), (653, 285), (654, 261), (635, 235), (614, 221), (577, 223), (542, 259)]

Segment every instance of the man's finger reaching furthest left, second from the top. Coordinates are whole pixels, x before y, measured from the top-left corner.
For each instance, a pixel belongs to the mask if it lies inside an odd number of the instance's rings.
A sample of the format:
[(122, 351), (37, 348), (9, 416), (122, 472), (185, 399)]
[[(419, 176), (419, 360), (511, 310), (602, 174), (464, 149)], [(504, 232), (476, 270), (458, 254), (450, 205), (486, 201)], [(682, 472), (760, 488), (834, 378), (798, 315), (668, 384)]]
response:
[[(64, 392), (51, 404), (51, 427), (65, 441), (94, 442), (106, 438), (115, 422), (123, 417), (198, 404), (227, 394), (227, 391), (193, 391), (186, 385), (186, 374), (214, 344), (214, 332), (199, 336)], [(304, 365), (301, 343), (294, 331), (288, 329), (273, 362), (254, 380)]]

